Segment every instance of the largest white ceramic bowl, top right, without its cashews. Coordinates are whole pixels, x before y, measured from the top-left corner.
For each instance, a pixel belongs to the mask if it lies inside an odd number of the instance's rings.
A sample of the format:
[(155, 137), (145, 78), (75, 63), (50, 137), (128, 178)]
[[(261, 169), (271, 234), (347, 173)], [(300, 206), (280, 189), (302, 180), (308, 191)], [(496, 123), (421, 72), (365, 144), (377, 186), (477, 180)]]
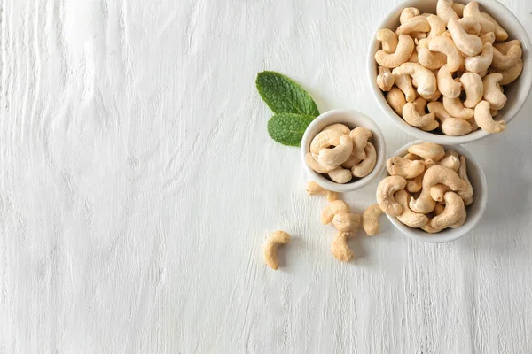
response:
[[(520, 111), (521, 107), (527, 100), (530, 86), (532, 85), (532, 53), (530, 52), (532, 47), (530, 46), (530, 40), (528, 39), (525, 28), (521, 26), (519, 20), (513, 15), (512, 12), (506, 9), (503, 4), (500, 4), (497, 2), (497, 0), (478, 0), (478, 2), (481, 4), (481, 11), (488, 12), (495, 19), (497, 19), (499, 24), (508, 32), (508, 39), (519, 39), (523, 49), (523, 71), (516, 81), (513, 81), (510, 85), (505, 86), (505, 95), (507, 96), (508, 101), (506, 102), (505, 108), (497, 115), (497, 119), (505, 120), (505, 122), (508, 123)], [(401, 14), (403, 8), (417, 7), (419, 8), (420, 12), (435, 13), (436, 3), (437, 0), (404, 1), (387, 13), (386, 17), (379, 24), (379, 27), (374, 31), (374, 34), (376, 34), (380, 28), (390, 28), (395, 30), (395, 28), (399, 26), (399, 15)], [(468, 2), (465, 0), (455, 0), (455, 3), (467, 4)], [(395, 122), (398, 127), (403, 129), (403, 131), (406, 133), (421, 140), (448, 145), (474, 142), (489, 135), (482, 129), (479, 129), (468, 135), (447, 136), (425, 132), (417, 127), (412, 127), (405, 122), (395, 113), (389, 104), (387, 104), (386, 96), (384, 96), (384, 93), (377, 86), (376, 78), (378, 75), (378, 65), (375, 62), (374, 57), (377, 50), (379, 50), (379, 46), (380, 42), (373, 37), (372, 41), (370, 42), (367, 59), (370, 86), (382, 110), (390, 119)], [(501, 134), (505, 133), (503, 132)]]

